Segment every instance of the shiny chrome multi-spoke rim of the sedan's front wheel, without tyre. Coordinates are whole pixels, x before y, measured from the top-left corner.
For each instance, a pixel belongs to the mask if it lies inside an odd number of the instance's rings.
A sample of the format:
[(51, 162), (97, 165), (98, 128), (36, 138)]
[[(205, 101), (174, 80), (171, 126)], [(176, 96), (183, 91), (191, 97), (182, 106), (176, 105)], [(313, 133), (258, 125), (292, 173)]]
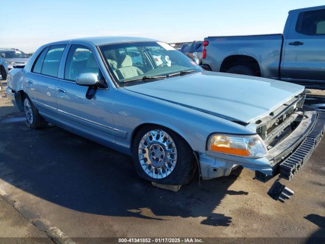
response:
[(147, 132), (140, 140), (138, 157), (142, 169), (151, 178), (170, 175), (177, 162), (177, 148), (172, 137), (163, 130)]

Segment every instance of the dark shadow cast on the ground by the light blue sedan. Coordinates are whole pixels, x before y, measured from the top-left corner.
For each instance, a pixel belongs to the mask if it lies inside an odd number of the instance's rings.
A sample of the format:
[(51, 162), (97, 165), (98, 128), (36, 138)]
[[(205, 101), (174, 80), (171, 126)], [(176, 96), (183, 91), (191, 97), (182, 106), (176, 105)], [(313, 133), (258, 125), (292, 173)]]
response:
[(24, 123), (0, 123), (0, 178), (39, 198), (97, 215), (165, 221), (204, 217), (209, 226), (229, 226), (218, 213), (241, 169), (228, 177), (201, 181), (198, 174), (177, 193), (138, 177), (132, 158), (52, 126), (31, 130)]

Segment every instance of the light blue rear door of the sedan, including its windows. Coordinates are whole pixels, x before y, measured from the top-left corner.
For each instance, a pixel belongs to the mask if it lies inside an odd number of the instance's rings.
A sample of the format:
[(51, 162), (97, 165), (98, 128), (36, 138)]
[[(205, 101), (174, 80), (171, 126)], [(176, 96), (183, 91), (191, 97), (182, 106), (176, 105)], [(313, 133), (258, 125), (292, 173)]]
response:
[(56, 113), (56, 83), (60, 57), (66, 45), (46, 47), (24, 79), (24, 92), (45, 117)]

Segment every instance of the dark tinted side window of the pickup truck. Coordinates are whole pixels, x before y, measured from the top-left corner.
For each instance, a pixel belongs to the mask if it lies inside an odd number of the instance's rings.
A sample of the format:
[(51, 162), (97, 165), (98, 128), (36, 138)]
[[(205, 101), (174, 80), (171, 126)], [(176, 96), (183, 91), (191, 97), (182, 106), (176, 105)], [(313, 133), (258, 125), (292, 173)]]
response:
[(308, 35), (325, 35), (325, 9), (299, 14), (296, 32)]

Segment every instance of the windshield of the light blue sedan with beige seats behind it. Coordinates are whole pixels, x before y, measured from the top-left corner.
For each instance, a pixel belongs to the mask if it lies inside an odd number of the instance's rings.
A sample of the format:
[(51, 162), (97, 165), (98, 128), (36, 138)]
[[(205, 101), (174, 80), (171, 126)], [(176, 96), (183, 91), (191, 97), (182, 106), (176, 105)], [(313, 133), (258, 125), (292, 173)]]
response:
[(193, 60), (163, 42), (109, 44), (100, 50), (111, 73), (121, 83), (202, 71)]

